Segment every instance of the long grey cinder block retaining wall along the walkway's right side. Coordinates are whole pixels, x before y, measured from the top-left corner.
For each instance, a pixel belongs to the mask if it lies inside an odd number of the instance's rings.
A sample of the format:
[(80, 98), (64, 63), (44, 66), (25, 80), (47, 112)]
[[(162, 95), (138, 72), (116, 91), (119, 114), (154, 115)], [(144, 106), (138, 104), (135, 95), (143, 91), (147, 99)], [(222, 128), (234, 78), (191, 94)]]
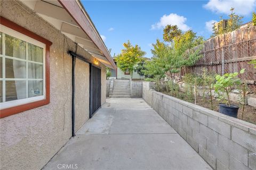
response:
[(151, 90), (142, 97), (213, 169), (256, 169), (256, 125)]

